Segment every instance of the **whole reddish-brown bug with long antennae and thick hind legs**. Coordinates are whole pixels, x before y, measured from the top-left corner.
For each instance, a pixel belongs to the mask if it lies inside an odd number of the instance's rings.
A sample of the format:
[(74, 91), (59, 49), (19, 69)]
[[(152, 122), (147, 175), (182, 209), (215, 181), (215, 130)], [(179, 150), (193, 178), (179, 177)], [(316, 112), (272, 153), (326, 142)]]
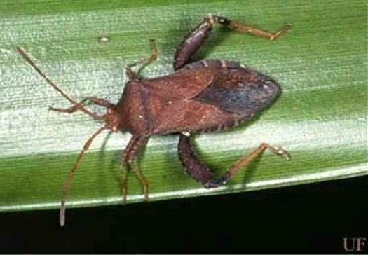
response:
[[(90, 136), (76, 158), (62, 186), (60, 225), (65, 222), (65, 198), (83, 154), (88, 150), (93, 139), (103, 130), (117, 132), (128, 131), (132, 138), (123, 151), (120, 168), (125, 163), (135, 173), (142, 184), (144, 200), (148, 198), (148, 183), (144, 179), (136, 159), (139, 151), (146, 145), (151, 135), (179, 134), (178, 153), (185, 171), (205, 188), (215, 188), (226, 184), (239, 169), (264, 150), (289, 158), (281, 148), (266, 143), (243, 156), (234, 163), (222, 177), (216, 179), (210, 170), (200, 163), (191, 146), (189, 134), (193, 132), (219, 131), (235, 127), (252, 118), (254, 113), (270, 105), (278, 95), (279, 88), (272, 78), (249, 69), (242, 64), (226, 60), (201, 60), (189, 63), (201, 44), (209, 35), (214, 24), (224, 25), (238, 32), (247, 32), (264, 37), (270, 41), (278, 38), (290, 29), (285, 25), (274, 34), (247, 25), (233, 22), (217, 15), (206, 15), (203, 21), (184, 38), (174, 57), (174, 74), (158, 78), (141, 79), (132, 71), (137, 64), (148, 64), (156, 60), (157, 50), (151, 40), (151, 57), (130, 64), (126, 68), (129, 81), (118, 104), (111, 104), (105, 99), (86, 97), (76, 102), (50, 81), (21, 48), (17, 52), (60, 94), (71, 102), (68, 109), (50, 108), (52, 111), (74, 113), (82, 111), (104, 122), (104, 126)], [(83, 104), (90, 102), (107, 109), (104, 115), (90, 111)], [(123, 203), (126, 200), (127, 184), (122, 175), (121, 192)]]

